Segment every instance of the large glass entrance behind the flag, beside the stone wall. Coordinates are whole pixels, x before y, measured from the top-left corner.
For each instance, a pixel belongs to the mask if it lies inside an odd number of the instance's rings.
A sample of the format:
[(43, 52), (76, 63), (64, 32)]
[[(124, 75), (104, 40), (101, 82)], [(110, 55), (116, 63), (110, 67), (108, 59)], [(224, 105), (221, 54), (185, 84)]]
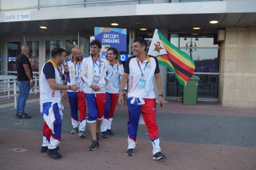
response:
[[(209, 36), (210, 37), (210, 36)], [(179, 38), (180, 50), (190, 56), (195, 62), (195, 76), (200, 78), (198, 82), (198, 98), (218, 98), (219, 91), (219, 46), (211, 38), (195, 38), (181, 35)], [(171, 35), (171, 42), (177, 43), (176, 36)], [(175, 44), (175, 46), (178, 46)], [(167, 96), (182, 97), (183, 88), (174, 72), (168, 69)]]

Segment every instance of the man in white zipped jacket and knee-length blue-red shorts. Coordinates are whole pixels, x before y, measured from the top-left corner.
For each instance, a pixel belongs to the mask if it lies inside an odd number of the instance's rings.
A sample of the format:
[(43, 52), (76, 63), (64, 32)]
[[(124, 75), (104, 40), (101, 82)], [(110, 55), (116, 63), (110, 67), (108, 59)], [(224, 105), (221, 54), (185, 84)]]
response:
[(88, 108), (87, 123), (92, 137), (92, 145), (88, 150), (95, 150), (99, 147), (99, 132), (106, 106), (106, 84), (113, 74), (109, 62), (99, 55), (101, 48), (101, 42), (93, 40), (90, 43), (91, 55), (83, 59), (81, 67)]

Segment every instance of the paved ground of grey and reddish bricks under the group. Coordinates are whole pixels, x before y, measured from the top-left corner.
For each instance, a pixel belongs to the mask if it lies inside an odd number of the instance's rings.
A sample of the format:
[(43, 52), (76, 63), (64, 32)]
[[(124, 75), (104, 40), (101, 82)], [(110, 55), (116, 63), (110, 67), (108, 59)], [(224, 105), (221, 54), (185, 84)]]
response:
[(126, 156), (126, 106), (116, 107), (112, 129), (117, 134), (101, 138), (100, 147), (89, 151), (88, 126), (83, 139), (70, 134), (70, 108), (63, 100), (63, 158), (54, 160), (40, 153), (43, 119), (38, 94), (33, 95), (25, 109), (30, 120), (15, 118), (13, 106), (0, 108), (0, 169), (256, 169), (256, 108), (164, 103), (157, 108), (157, 123), (166, 159), (154, 161), (144, 125), (138, 128), (135, 156)]

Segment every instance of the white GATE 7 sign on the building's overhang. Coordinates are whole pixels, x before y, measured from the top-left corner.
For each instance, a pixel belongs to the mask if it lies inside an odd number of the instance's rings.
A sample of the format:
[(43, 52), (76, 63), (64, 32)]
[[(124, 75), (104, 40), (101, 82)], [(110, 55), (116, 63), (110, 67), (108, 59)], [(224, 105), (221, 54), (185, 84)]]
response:
[(5, 22), (30, 21), (30, 11), (20, 13), (4, 13)]

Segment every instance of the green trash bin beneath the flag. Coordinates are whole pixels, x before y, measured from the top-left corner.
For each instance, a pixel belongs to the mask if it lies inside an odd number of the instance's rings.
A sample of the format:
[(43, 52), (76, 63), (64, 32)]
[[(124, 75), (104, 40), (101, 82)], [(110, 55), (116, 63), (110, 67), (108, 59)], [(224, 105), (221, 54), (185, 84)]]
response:
[(183, 104), (184, 105), (197, 105), (197, 88), (199, 77), (193, 75), (183, 90)]

